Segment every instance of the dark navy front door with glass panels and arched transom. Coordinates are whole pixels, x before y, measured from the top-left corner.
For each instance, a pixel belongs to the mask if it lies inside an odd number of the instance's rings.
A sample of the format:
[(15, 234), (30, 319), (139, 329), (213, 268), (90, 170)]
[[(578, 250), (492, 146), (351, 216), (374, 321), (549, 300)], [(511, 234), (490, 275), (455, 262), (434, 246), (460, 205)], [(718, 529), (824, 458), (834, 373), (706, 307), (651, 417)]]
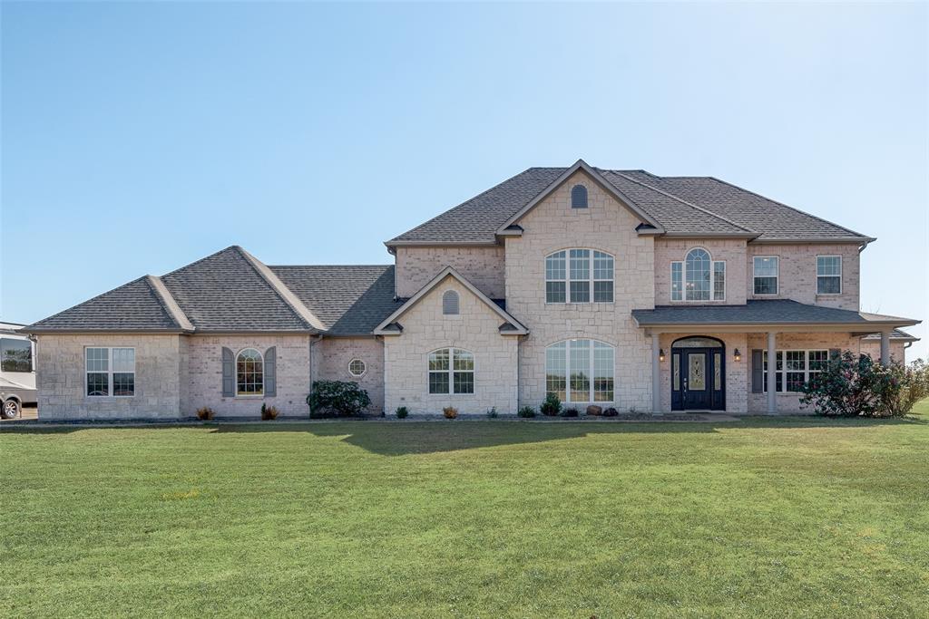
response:
[(671, 345), (671, 409), (726, 410), (726, 345), (689, 337)]

